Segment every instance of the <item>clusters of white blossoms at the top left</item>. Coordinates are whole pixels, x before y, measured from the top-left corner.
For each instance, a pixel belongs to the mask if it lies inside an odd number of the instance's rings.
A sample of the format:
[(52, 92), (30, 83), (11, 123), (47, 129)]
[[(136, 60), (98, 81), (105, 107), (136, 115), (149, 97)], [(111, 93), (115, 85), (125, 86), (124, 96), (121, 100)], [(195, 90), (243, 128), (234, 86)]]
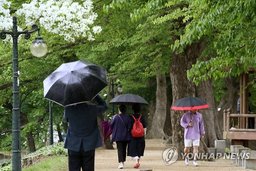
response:
[[(0, 1), (0, 31), (12, 28), (10, 6), (10, 1)], [(102, 31), (100, 26), (93, 26), (98, 15), (93, 12), (91, 0), (32, 0), (24, 3), (16, 15), (25, 17), (26, 26), (40, 24), (40, 27), (62, 36), (66, 41), (74, 42), (81, 37), (95, 40), (94, 35)]]

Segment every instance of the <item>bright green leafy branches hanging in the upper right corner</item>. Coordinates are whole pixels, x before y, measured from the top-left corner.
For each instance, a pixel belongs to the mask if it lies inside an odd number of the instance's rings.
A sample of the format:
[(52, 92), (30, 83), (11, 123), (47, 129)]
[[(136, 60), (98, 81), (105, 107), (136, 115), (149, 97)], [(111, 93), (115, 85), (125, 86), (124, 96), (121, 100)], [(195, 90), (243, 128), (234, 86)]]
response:
[(186, 26), (184, 35), (172, 46), (183, 51), (186, 45), (204, 40), (206, 48), (201, 59), (188, 71), (194, 82), (208, 78), (237, 77), (255, 68), (256, 2), (254, 0), (197, 0), (197, 13)]

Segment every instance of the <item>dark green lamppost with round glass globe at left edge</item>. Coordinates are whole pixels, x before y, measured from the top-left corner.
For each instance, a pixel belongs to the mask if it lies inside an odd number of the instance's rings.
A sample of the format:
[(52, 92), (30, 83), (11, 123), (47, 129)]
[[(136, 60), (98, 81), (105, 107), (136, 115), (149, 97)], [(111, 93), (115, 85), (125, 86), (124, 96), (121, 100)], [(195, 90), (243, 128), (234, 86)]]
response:
[[(19, 109), (19, 63), (18, 63), (18, 37), (24, 34), (25, 39), (30, 38), (30, 34), (38, 31), (37, 24), (33, 24), (31, 31), (18, 31), (17, 17), (12, 17), (12, 31), (2, 31), (0, 37), (4, 40), (6, 34), (12, 36), (13, 51), (12, 51), (12, 171), (21, 171), (21, 128), (20, 128), (20, 109)], [(30, 50), (37, 57), (44, 56), (47, 51), (45, 42), (40, 37), (40, 34), (32, 42)]]

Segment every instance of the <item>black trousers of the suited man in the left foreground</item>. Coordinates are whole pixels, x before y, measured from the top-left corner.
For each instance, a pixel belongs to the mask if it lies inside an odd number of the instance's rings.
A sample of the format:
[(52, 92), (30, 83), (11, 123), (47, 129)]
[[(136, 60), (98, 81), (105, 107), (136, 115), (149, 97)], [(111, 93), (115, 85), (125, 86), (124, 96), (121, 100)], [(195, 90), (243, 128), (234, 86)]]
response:
[(94, 171), (95, 149), (84, 152), (81, 144), (80, 151), (68, 150), (68, 171)]

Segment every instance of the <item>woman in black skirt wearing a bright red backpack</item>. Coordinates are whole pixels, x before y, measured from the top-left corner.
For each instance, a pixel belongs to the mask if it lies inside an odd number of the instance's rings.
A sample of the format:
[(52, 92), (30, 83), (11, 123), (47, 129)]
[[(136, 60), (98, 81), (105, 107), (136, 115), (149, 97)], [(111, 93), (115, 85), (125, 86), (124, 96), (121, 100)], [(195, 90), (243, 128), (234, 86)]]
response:
[(140, 104), (135, 103), (132, 106), (133, 114), (130, 115), (131, 119), (131, 141), (128, 143), (127, 155), (135, 160), (133, 168), (140, 167), (140, 159), (142, 159), (145, 150), (145, 134), (146, 134), (146, 121), (140, 115)]

